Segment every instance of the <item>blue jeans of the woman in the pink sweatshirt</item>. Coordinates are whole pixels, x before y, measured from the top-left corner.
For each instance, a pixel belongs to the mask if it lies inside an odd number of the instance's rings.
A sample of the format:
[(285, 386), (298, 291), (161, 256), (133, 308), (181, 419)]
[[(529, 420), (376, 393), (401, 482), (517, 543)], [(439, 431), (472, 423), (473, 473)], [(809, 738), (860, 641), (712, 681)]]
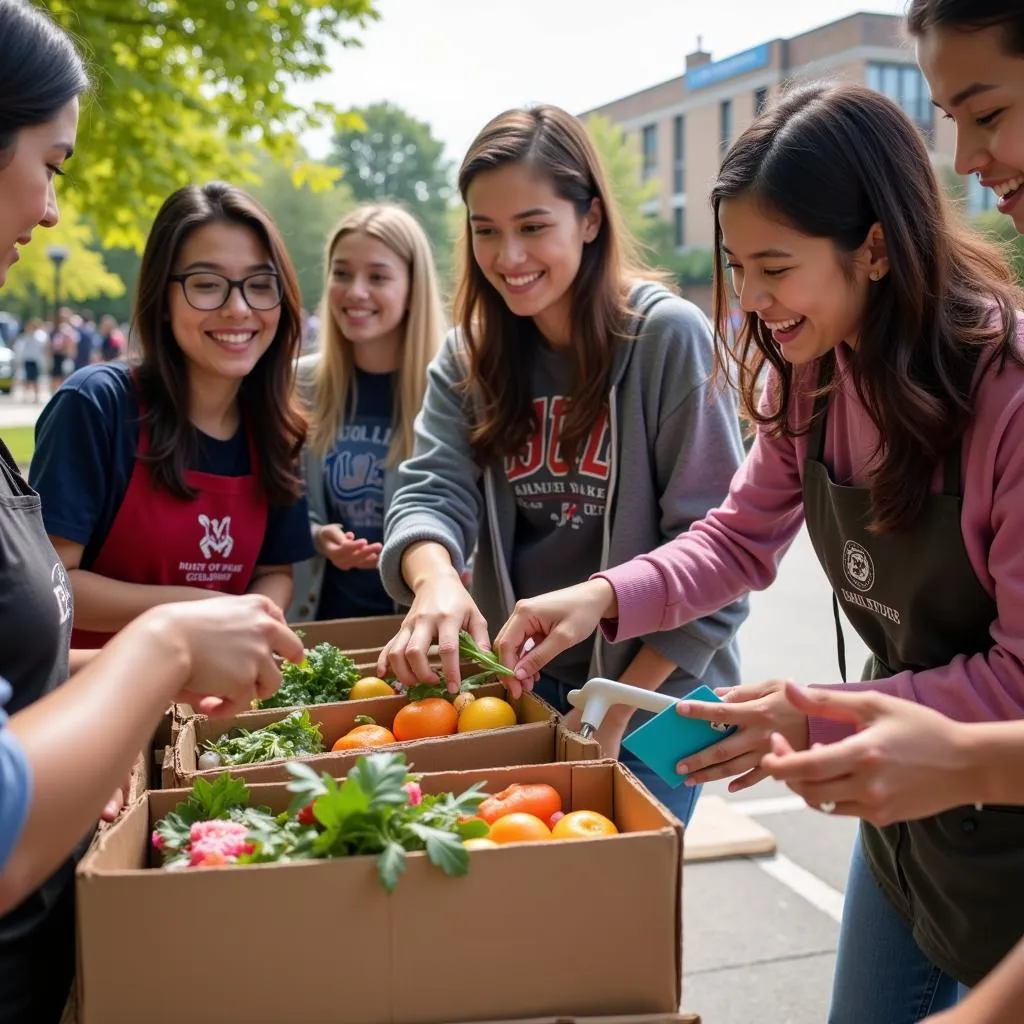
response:
[(840, 926), (828, 1024), (915, 1024), (954, 1007), (967, 994), (914, 942), (861, 850), (853, 848)]

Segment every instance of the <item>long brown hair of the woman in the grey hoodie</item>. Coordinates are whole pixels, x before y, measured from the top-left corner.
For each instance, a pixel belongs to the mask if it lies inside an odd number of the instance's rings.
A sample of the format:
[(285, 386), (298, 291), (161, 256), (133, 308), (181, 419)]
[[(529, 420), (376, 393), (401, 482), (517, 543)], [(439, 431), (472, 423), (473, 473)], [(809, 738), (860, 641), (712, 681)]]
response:
[[(647, 271), (622, 223), (604, 170), (583, 124), (557, 106), (506, 111), (469, 147), (459, 170), (463, 202), (473, 179), (508, 164), (547, 178), (557, 196), (583, 217), (596, 199), (602, 209), (597, 238), (584, 247), (571, 286), (569, 347), (575, 388), (568, 402), (561, 451), (572, 460), (607, 403), (616, 342), (626, 336), (631, 285)], [(474, 394), (470, 443), (481, 465), (518, 454), (538, 429), (530, 395), (530, 359), (523, 317), (505, 304), (473, 257), (468, 210), (456, 287), (455, 318), (468, 356), (466, 388)]]

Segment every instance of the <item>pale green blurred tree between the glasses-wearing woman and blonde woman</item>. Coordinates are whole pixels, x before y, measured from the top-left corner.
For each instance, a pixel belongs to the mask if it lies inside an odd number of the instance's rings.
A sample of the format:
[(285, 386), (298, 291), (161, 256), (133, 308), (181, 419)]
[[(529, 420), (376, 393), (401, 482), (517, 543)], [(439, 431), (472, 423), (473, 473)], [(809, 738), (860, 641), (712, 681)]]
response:
[(290, 168), (270, 157), (257, 163), (261, 183), (253, 195), (267, 208), (288, 246), (302, 290), (302, 302), (314, 309), (324, 290), (324, 247), (335, 224), (354, 205), (345, 181), (313, 190), (297, 184)]

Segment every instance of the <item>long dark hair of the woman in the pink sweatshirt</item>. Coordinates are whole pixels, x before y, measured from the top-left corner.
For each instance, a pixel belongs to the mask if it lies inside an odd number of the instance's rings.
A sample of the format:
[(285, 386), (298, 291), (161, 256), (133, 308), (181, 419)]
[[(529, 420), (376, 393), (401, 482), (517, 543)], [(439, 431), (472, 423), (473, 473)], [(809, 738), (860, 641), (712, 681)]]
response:
[[(728, 341), (719, 212), (740, 196), (798, 231), (831, 240), (842, 262), (882, 225), (889, 272), (871, 285), (851, 374), (880, 437), (871, 528), (908, 528), (971, 421), (982, 346), (992, 346), (993, 357), (1014, 353), (1018, 292), (1010, 268), (996, 247), (954, 219), (920, 132), (892, 100), (858, 85), (785, 94), (736, 139), (711, 194), (718, 366), (735, 361), (745, 411), (772, 436), (806, 433), (810, 424), (793, 422), (793, 367), (760, 318), (748, 313)], [(766, 364), (778, 387), (761, 412)]]

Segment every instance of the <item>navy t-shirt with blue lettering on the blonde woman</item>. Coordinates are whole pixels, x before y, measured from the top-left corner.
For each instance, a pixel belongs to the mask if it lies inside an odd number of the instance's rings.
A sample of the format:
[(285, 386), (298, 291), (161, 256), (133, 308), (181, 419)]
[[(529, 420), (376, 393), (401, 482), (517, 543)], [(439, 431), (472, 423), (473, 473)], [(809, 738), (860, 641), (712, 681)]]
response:
[[(324, 499), (331, 522), (371, 544), (384, 540), (384, 470), (391, 444), (394, 374), (355, 371), (355, 413), (324, 461)], [(317, 618), (389, 615), (394, 602), (379, 569), (324, 572)]]

